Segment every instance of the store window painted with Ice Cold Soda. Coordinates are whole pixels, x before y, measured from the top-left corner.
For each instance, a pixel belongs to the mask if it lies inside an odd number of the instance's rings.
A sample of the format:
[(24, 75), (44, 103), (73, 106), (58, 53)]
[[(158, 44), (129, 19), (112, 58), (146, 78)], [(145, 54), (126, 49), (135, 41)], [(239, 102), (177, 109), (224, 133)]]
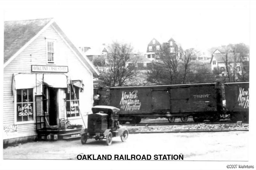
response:
[(17, 122), (26, 122), (34, 120), (33, 113), (33, 88), (17, 90)]

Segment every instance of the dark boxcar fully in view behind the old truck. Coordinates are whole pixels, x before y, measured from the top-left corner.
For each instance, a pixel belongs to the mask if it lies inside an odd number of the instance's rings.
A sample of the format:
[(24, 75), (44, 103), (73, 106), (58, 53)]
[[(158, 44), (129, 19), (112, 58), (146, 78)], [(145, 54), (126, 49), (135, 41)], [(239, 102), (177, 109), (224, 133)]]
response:
[(222, 109), (220, 83), (151, 85), (110, 88), (110, 106), (120, 108), (120, 121), (139, 123), (141, 117), (167, 117), (186, 122), (216, 121)]

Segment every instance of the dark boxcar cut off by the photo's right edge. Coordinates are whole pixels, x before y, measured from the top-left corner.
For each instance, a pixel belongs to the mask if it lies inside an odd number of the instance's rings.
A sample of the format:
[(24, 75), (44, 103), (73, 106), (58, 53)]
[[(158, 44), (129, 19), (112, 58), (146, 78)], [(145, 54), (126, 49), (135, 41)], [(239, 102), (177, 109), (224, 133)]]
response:
[(226, 107), (234, 121), (249, 121), (249, 82), (224, 83)]

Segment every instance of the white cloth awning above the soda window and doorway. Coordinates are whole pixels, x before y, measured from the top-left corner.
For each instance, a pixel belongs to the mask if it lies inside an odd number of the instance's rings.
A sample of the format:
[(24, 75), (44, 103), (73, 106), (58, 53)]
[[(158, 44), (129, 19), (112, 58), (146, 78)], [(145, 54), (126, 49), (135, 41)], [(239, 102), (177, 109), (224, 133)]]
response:
[(65, 74), (16, 74), (13, 75), (12, 90), (34, 88), (42, 83), (54, 88), (67, 88), (68, 79)]

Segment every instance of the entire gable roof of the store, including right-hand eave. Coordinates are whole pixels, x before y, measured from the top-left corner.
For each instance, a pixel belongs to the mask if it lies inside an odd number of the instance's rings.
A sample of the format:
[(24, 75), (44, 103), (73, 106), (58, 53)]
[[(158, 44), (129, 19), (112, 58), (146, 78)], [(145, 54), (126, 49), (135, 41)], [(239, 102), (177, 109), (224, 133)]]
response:
[[(53, 21), (53, 18), (5, 21), (4, 23), (4, 67), (11, 62), (24, 48), (26, 48), (40, 33), (52, 25), (57, 33), (66, 41), (69, 47), (82, 60), (84, 65), (92, 71), (93, 75), (99, 75), (99, 71), (92, 65), (88, 58), (80, 53), (74, 44), (68, 39), (66, 34)], [(17, 34), (17, 35), (16, 35)]]

